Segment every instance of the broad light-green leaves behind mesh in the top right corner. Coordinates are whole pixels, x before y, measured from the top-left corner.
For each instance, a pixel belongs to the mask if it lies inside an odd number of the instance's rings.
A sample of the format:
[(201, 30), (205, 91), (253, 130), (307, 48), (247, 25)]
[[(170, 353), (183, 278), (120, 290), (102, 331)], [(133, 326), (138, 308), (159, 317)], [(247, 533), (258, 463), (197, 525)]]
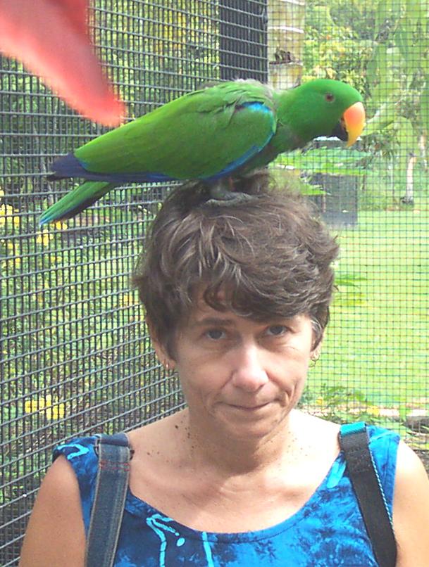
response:
[(381, 0), (374, 15), (366, 143), (381, 139), (385, 153), (418, 153), (419, 138), (428, 132), (428, 6), (419, 0)]

